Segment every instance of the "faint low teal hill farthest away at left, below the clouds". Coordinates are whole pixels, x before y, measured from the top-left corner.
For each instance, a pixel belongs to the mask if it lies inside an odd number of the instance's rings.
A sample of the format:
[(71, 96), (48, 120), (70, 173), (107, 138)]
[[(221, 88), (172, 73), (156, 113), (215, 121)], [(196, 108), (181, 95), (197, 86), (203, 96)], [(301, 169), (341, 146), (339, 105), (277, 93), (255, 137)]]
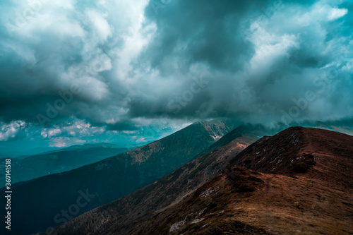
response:
[[(11, 161), (12, 170), (16, 173), (13, 174), (11, 181), (17, 183), (40, 176), (70, 171), (128, 150), (128, 148), (115, 147), (110, 143), (98, 143), (73, 145), (38, 155), (13, 158)], [(0, 162), (0, 179), (4, 181), (5, 159), (0, 159)]]

